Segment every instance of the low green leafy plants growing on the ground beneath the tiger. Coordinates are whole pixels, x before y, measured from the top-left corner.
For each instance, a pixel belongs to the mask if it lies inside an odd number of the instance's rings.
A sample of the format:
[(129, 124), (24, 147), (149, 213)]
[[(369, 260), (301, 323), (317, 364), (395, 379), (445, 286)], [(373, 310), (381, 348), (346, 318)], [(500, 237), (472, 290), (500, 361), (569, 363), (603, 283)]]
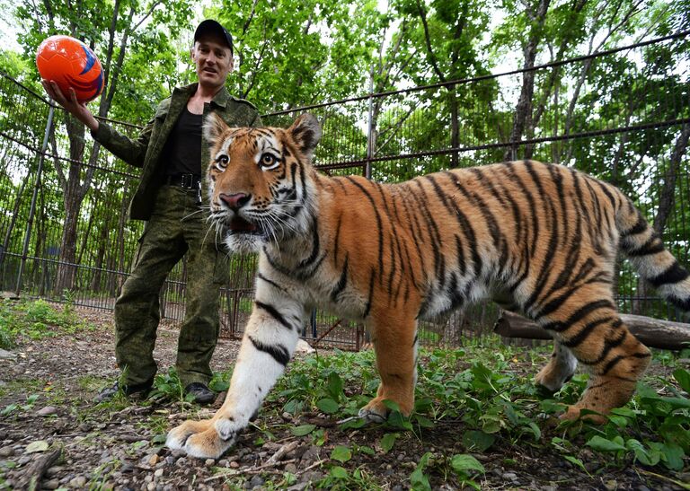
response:
[[(608, 467), (623, 469), (633, 464), (659, 472), (682, 471), (687, 469), (690, 455), (690, 400), (686, 393), (690, 373), (676, 365), (677, 356), (656, 355), (654, 364), (668, 366), (673, 380), (651, 379), (654, 390), (641, 384), (627, 406), (612, 411), (606, 425), (563, 422), (554, 433), (550, 425), (544, 425), (544, 418), (558, 416), (564, 404), (579, 399), (588, 376), (575, 375), (554, 399), (544, 399), (531, 380), (533, 373), (516, 370), (515, 364), (523, 360), (522, 367), (524, 360), (532, 359), (536, 371), (546, 361), (545, 349), (503, 346), (485, 338), (482, 346), (468, 342), (458, 350), (422, 350), (411, 416), (403, 416), (393, 401), (385, 401), (390, 409), (387, 420), (368, 427), (381, 432), (372, 439), (376, 451), (341, 445), (333, 449), (332, 460), (344, 465), (358, 452), (385, 454), (410, 438), (423, 442), (427, 428), (449, 419), (454, 426), (461, 425), (458, 442), (465, 453), (422, 456), (410, 476), (414, 489), (429, 489), (429, 479), (435, 474), (450, 474), (464, 486), (478, 487), (476, 477), (483, 467), (469, 452), (491, 452), (497, 445), (555, 452), (584, 473), (588, 473), (582, 454), (585, 449), (597, 452)], [(290, 365), (277, 390), (271, 392), (267, 407), (290, 409), (295, 416), (321, 411), (334, 419), (346, 419), (341, 431), (351, 431), (363, 423), (348, 416), (357, 415), (358, 408), (376, 395), (377, 386), (371, 352), (310, 356)], [(323, 430), (315, 425), (297, 425), (291, 431), (298, 436), (313, 435), (315, 442), (323, 444)], [(345, 486), (351, 478), (351, 470), (335, 466), (322, 484)]]

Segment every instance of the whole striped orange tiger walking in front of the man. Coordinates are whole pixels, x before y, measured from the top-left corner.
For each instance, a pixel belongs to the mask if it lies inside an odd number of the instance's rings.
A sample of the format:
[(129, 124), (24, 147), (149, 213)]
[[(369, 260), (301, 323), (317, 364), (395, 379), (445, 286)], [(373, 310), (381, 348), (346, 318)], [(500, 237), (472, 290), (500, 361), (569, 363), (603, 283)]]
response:
[(561, 389), (578, 364), (589, 373), (562, 419), (606, 421), (650, 364), (650, 350), (616, 311), (618, 250), (690, 311), (690, 275), (659, 234), (622, 191), (581, 171), (525, 160), (381, 184), (316, 171), (322, 128), (310, 114), (288, 128), (227, 127), (211, 114), (204, 132), (209, 221), (230, 251), (258, 252), (259, 262), (223, 406), (167, 435), (168, 447), (190, 456), (218, 458), (234, 444), (317, 307), (370, 333), (381, 381), (359, 411), (367, 422), (386, 418), (386, 399), (410, 415), (420, 320), (483, 299), (553, 337), (537, 385)]

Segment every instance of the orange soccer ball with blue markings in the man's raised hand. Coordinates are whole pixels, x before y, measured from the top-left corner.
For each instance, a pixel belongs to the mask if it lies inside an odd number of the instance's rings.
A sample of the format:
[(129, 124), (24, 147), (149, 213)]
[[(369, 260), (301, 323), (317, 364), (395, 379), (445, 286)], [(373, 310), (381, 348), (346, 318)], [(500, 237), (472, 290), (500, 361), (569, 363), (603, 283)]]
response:
[(36, 66), (45, 80), (53, 80), (67, 99), (75, 89), (79, 101), (93, 101), (103, 92), (103, 68), (93, 51), (79, 39), (50, 36), (40, 43)]

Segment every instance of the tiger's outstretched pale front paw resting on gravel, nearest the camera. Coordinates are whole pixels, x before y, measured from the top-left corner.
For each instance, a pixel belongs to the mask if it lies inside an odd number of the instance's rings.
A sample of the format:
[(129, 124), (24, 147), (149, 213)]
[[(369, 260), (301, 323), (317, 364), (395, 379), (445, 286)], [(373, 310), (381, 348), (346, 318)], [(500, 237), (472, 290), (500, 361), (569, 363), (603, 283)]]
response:
[(233, 446), (240, 428), (231, 418), (186, 421), (168, 433), (165, 444), (190, 457), (217, 459)]

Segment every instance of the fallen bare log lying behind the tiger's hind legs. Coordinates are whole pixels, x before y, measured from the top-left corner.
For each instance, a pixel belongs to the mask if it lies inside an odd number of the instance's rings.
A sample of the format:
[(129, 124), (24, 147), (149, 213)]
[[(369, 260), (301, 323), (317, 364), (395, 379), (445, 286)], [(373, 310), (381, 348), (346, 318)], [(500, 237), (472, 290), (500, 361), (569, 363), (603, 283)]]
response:
[[(621, 314), (635, 338), (649, 347), (679, 350), (690, 347), (690, 324), (659, 320), (642, 315)], [(517, 313), (503, 311), (493, 332), (504, 338), (551, 339), (549, 331)]]

